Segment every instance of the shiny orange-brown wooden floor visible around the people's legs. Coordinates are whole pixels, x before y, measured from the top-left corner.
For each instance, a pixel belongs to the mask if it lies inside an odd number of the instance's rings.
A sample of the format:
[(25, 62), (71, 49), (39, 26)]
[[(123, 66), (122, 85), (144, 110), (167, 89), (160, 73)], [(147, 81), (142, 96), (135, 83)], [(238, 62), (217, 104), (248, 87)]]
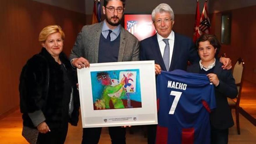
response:
[[(256, 85), (244, 82), (240, 106), (256, 118)], [(234, 118), (234, 111), (232, 111)], [(235, 119), (234, 119), (235, 120)], [(256, 127), (240, 114), (241, 135), (237, 135), (236, 125), (229, 129), (229, 144), (256, 144)], [(19, 110), (0, 120), (0, 144), (27, 144), (21, 136), (22, 118)], [(134, 134), (127, 130), (127, 144), (146, 144), (143, 129)], [(69, 126), (65, 144), (79, 144), (82, 139), (81, 120), (77, 127)], [(110, 144), (108, 129), (103, 128), (99, 144)]]

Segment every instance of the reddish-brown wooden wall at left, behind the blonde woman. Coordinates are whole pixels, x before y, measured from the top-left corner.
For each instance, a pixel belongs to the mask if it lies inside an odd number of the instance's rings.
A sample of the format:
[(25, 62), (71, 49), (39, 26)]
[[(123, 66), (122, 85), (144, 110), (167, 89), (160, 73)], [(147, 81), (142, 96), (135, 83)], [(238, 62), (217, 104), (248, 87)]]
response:
[(58, 24), (66, 35), (69, 55), (86, 15), (31, 0), (1, 0), (0, 5), (0, 115), (19, 105), (19, 75), (26, 61), (38, 53), (38, 35), (47, 25)]

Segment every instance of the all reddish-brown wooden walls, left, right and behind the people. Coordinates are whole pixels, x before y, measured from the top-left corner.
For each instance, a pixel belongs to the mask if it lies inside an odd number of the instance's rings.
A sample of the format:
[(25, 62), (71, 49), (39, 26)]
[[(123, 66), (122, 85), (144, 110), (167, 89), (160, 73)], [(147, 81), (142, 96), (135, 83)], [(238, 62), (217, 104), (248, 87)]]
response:
[[(220, 53), (227, 53), (233, 65), (242, 57), (246, 62), (245, 79), (256, 83), (256, 6), (229, 12), (232, 13), (231, 44), (222, 45)], [(42, 28), (60, 25), (66, 35), (63, 51), (69, 54), (77, 33), (84, 24), (91, 24), (91, 17), (31, 0), (1, 0), (0, 115), (19, 105), (19, 74), (26, 61), (40, 51), (38, 34)], [(194, 17), (193, 14), (175, 14), (174, 31), (192, 38)], [(220, 39), (221, 12), (212, 14), (210, 19), (211, 32)]]

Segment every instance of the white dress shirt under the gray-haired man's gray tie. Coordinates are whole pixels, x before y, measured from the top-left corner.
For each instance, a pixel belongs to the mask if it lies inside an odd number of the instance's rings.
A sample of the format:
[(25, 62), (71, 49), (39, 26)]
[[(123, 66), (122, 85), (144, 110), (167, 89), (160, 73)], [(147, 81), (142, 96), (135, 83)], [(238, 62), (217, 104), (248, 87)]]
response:
[[(169, 42), (169, 46), (170, 46), (170, 62), (169, 62), (169, 66), (170, 66), (171, 61), (172, 61), (172, 56), (173, 56), (174, 32), (171, 31), (170, 35), (167, 38), (169, 39), (168, 42)], [(163, 38), (161, 35), (159, 35), (157, 33), (157, 41), (158, 41), (158, 44), (159, 44), (159, 48), (160, 48), (162, 57), (163, 57), (164, 47), (166, 46), (163, 39), (167, 39), (167, 38)]]

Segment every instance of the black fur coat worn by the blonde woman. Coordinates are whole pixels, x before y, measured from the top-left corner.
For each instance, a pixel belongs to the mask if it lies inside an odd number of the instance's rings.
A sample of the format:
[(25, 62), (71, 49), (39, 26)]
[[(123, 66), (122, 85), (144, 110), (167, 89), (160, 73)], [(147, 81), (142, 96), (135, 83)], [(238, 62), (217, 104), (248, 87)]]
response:
[[(61, 66), (45, 48), (42, 48), (39, 54), (27, 61), (20, 76), (20, 110), (23, 113), (23, 125), (33, 127), (27, 113), (38, 110), (43, 112), (47, 125), (51, 127), (58, 127), (63, 121), (77, 125), (80, 104), (76, 88), (76, 71), (73, 70), (63, 52), (60, 54), (60, 60), (65, 65), (73, 89), (74, 110), (71, 117), (63, 120), (63, 115), (67, 113), (63, 113), (64, 80)], [(48, 67), (49, 80), (47, 78)]]

